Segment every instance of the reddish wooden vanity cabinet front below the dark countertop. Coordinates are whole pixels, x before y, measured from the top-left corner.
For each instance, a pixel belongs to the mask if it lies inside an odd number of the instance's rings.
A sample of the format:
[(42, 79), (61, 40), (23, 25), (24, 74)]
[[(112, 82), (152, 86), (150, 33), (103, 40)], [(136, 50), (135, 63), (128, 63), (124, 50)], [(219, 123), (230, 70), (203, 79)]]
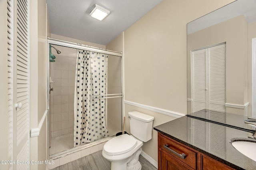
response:
[(234, 170), (158, 132), (158, 170)]

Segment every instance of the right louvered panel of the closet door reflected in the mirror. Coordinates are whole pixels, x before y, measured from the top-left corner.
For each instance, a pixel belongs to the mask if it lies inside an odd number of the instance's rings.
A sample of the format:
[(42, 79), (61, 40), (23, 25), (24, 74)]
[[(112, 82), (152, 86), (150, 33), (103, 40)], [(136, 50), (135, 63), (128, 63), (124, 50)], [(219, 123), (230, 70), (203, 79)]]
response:
[(226, 111), (226, 44), (210, 47), (209, 51), (209, 109)]

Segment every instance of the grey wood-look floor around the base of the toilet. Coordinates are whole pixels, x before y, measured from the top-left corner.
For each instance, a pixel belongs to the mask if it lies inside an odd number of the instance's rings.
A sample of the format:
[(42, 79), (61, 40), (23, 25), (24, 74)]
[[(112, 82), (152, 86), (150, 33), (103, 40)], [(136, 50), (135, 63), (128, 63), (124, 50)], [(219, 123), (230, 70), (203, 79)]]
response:
[[(141, 155), (139, 157), (142, 170), (157, 170)], [(102, 156), (102, 150), (74, 160), (62, 166), (53, 168), (52, 170), (110, 170), (111, 162)]]

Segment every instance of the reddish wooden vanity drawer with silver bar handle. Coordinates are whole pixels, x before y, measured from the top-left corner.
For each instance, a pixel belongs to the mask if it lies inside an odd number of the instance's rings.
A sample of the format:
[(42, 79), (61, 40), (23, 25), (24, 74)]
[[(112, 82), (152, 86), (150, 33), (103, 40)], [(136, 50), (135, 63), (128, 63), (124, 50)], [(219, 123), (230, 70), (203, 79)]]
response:
[(184, 145), (181, 145), (176, 141), (162, 135), (160, 135), (160, 149), (164, 150), (191, 168), (197, 169), (197, 152), (194, 152)]

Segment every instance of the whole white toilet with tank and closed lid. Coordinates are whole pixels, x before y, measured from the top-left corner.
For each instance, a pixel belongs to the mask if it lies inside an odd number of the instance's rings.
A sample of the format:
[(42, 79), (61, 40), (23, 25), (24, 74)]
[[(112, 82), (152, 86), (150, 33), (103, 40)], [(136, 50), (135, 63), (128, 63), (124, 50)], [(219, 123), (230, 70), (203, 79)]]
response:
[(153, 116), (138, 111), (129, 112), (128, 115), (131, 135), (110, 139), (102, 150), (104, 158), (111, 161), (111, 170), (140, 170), (141, 147), (143, 142), (152, 138)]

